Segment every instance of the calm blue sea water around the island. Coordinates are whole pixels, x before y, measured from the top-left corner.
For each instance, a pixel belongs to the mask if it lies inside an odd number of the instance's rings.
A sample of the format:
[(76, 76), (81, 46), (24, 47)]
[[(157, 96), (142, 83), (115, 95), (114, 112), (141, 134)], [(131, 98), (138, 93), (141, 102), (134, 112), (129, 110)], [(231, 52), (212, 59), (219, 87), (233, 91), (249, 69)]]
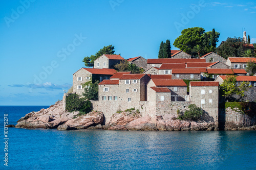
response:
[(104, 131), (8, 128), (49, 106), (0, 106), (0, 169), (256, 169), (256, 131)]

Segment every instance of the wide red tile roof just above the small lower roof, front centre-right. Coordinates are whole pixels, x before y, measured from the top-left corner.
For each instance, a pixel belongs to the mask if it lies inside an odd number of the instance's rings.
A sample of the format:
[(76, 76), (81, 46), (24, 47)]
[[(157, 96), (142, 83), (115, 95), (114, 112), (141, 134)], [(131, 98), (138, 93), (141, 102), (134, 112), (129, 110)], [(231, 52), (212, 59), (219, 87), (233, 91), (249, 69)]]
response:
[(182, 79), (151, 79), (156, 86), (187, 86)]

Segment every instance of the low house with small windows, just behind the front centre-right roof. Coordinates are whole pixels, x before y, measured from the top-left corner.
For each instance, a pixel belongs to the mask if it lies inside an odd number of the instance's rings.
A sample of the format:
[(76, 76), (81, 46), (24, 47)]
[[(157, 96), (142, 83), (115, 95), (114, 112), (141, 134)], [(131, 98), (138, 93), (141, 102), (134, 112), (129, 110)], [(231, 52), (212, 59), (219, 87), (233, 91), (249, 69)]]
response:
[(173, 69), (172, 79), (201, 80), (201, 71), (195, 69)]

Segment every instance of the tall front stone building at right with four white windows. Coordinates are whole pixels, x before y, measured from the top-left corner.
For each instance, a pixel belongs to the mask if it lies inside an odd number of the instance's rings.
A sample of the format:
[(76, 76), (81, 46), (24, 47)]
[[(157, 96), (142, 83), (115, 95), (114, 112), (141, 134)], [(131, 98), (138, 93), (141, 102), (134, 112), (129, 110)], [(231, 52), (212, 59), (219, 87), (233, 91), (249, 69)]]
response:
[(219, 83), (190, 82), (189, 92), (191, 104), (201, 107), (209, 115), (209, 120), (218, 121), (219, 114)]

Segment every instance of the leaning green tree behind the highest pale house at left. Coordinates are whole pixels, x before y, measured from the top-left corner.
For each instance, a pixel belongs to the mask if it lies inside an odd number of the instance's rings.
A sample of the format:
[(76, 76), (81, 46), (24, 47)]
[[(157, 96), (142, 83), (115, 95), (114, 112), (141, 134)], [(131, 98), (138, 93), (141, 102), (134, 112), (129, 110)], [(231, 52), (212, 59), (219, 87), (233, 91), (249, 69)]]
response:
[(94, 66), (94, 60), (99, 58), (103, 54), (115, 54), (113, 45), (104, 46), (101, 48), (95, 55), (91, 55), (90, 57), (84, 57), (82, 62), (84, 62), (84, 65), (87, 67), (93, 67)]

